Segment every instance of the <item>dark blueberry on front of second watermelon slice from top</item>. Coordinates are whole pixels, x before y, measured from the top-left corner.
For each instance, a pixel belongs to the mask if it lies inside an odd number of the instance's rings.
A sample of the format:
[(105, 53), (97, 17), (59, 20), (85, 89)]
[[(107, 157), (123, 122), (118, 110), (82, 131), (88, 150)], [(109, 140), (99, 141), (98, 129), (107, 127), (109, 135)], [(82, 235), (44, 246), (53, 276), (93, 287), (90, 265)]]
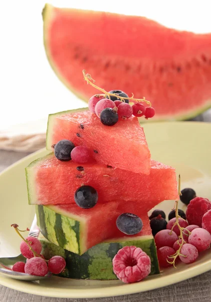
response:
[(97, 191), (91, 186), (81, 186), (75, 192), (75, 202), (83, 209), (90, 209), (96, 205), (98, 200)]

